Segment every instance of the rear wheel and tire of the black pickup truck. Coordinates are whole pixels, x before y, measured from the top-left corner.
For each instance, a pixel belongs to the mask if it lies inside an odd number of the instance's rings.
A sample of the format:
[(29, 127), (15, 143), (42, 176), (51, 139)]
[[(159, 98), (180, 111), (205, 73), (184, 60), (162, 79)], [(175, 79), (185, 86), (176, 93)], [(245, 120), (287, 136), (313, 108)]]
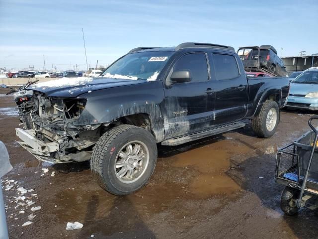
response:
[[(266, 123), (269, 111), (272, 111), (272, 122), (274, 123), (271, 127), (267, 127)], [(276, 118), (274, 117), (274, 111), (276, 112)], [(279, 108), (277, 103), (275, 101), (265, 101), (258, 115), (252, 119), (251, 127), (258, 137), (270, 138), (275, 133), (278, 122)]]

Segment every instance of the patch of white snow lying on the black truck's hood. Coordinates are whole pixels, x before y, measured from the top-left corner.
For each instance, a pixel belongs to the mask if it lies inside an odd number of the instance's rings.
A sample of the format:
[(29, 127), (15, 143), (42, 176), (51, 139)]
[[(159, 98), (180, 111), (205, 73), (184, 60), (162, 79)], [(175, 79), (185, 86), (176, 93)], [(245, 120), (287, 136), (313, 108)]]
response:
[(61, 87), (61, 86), (81, 86), (81, 85), (86, 85), (86, 83), (92, 82), (93, 79), (88, 78), (88, 77), (82, 77), (82, 78), (68, 78), (68, 77), (63, 77), (58, 80), (53, 80), (53, 81), (46, 81), (46, 82), (41, 82), (38, 84), (32, 85), (32, 88), (37, 88), (37, 87)]

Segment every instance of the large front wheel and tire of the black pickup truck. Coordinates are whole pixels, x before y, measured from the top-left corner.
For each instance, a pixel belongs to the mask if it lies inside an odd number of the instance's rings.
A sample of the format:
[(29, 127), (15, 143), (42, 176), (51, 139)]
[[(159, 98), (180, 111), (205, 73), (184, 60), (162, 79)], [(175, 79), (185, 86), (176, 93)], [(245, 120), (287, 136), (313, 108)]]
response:
[[(131, 154), (127, 145), (132, 145)], [(139, 154), (134, 154), (137, 145), (140, 146), (139, 150), (137, 149)], [(129, 155), (127, 159), (119, 156), (121, 152), (124, 152), (122, 155)], [(137, 162), (134, 160), (138, 159), (134, 157), (142, 159)], [(132, 179), (128, 177), (129, 170), (127, 174), (123, 173), (120, 177), (121, 170), (125, 172), (125, 168), (130, 168), (134, 163), (141, 169), (132, 169), (135, 173)], [(103, 189), (111, 194), (122, 196), (143, 187), (153, 174), (156, 163), (157, 144), (154, 136), (144, 128), (122, 124), (113, 127), (100, 137), (93, 149), (90, 168), (94, 178)], [(120, 165), (126, 166), (120, 167)]]

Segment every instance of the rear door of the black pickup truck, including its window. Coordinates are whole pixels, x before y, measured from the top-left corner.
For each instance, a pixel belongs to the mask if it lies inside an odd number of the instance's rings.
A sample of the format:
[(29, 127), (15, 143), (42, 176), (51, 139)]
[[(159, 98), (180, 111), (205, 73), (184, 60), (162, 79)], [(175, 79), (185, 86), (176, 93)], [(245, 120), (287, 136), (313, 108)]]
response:
[(244, 118), (247, 110), (247, 80), (239, 58), (231, 53), (211, 53), (212, 89), (215, 91), (215, 124)]

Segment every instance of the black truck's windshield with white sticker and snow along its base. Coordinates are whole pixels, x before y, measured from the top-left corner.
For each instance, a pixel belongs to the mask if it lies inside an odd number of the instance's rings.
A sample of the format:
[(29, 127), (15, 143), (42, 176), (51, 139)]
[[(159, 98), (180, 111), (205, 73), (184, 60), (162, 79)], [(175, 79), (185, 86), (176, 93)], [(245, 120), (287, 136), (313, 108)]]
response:
[(152, 51), (127, 54), (108, 67), (102, 77), (156, 81), (173, 52)]

